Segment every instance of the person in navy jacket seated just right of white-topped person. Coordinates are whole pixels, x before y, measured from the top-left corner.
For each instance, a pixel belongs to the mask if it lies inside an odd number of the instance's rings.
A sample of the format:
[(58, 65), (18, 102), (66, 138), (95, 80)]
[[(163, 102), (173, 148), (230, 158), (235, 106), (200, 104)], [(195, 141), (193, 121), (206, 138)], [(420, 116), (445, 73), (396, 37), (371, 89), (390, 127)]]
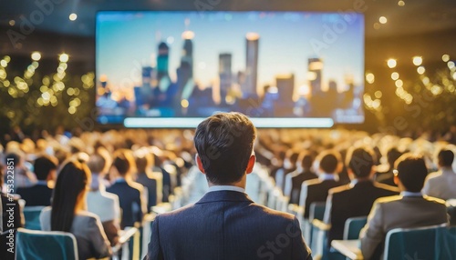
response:
[(147, 213), (147, 199), (143, 197), (143, 187), (131, 179), (134, 168), (136, 168), (135, 160), (130, 150), (119, 149), (114, 153), (109, 172), (110, 179), (114, 183), (106, 191), (119, 196), (122, 209), (120, 228), (122, 229), (141, 222), (142, 216)]

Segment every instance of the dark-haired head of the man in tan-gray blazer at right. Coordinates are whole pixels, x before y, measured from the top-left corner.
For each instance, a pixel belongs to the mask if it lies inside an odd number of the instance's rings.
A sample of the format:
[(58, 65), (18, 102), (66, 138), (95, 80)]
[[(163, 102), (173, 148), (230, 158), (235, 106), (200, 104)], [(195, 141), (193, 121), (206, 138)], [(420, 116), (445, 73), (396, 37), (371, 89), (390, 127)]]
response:
[(416, 155), (404, 154), (395, 163), (400, 183), (409, 192), (418, 193), (423, 188), (428, 175), (428, 168), (423, 158)]

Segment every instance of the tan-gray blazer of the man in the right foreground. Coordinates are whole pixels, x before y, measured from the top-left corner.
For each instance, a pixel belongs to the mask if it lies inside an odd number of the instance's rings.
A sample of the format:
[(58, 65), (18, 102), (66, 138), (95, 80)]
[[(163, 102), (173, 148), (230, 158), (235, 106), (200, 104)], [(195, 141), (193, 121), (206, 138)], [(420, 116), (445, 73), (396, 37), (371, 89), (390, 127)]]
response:
[[(361, 251), (365, 259), (378, 253), (389, 230), (448, 223), (445, 202), (430, 196), (395, 195), (379, 198), (361, 230)], [(377, 254), (375, 254), (377, 255)]]

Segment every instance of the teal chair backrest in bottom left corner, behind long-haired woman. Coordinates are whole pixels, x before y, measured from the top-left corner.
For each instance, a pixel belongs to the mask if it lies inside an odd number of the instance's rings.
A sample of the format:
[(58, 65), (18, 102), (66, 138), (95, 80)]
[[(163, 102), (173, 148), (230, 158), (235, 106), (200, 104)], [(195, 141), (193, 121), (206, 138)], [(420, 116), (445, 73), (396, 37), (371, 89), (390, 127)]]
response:
[(78, 260), (76, 237), (67, 232), (18, 228), (16, 260), (28, 259)]

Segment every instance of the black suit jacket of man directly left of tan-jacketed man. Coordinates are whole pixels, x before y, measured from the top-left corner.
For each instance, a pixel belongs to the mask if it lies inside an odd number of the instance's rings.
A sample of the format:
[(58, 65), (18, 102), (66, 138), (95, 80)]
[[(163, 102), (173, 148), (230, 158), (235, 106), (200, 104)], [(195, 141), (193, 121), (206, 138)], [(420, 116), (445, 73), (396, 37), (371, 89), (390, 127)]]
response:
[(390, 195), (399, 195), (399, 189), (372, 181), (330, 189), (325, 211), (325, 222), (331, 224), (328, 243), (333, 239), (342, 239), (347, 218), (367, 216), (376, 199)]

